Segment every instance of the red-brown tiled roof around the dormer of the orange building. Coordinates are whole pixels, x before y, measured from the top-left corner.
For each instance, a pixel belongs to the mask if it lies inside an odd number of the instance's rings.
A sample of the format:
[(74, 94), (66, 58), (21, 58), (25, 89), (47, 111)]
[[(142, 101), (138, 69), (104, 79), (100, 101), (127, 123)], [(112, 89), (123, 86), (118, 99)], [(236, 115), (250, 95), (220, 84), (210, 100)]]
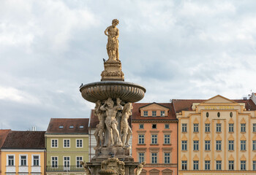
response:
[[(169, 109), (167, 116), (165, 117), (142, 117), (140, 116), (140, 108), (148, 106), (150, 104), (159, 104)], [(134, 103), (132, 104), (132, 120), (176, 120), (176, 115), (173, 111), (173, 105), (171, 103)]]

